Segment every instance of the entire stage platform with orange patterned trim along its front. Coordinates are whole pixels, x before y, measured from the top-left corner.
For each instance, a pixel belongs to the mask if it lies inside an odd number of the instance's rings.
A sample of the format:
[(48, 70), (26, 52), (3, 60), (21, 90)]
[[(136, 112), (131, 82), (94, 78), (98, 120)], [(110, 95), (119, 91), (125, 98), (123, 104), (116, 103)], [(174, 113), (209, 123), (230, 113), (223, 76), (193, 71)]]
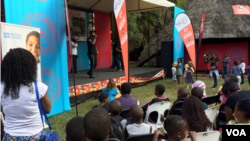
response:
[[(75, 86), (73, 82), (73, 74), (69, 73), (69, 97), (70, 105), (75, 105), (75, 92), (77, 103), (86, 102), (96, 99), (98, 94), (103, 88), (107, 87), (109, 79), (116, 82), (117, 87), (125, 82), (124, 71), (112, 71), (109, 68), (95, 69), (95, 78), (89, 78), (87, 75), (88, 70), (80, 71), (75, 74)], [(163, 68), (154, 67), (133, 67), (129, 68), (129, 82), (132, 87), (146, 85), (158, 79), (163, 79), (166, 71)]]

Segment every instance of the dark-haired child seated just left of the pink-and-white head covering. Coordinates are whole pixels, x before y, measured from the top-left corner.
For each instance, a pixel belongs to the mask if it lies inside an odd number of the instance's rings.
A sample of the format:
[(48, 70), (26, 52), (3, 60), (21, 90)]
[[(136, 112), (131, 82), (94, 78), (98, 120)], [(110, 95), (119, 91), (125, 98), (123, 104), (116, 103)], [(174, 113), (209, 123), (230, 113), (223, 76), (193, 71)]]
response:
[(189, 92), (188, 92), (187, 89), (185, 89), (185, 88), (180, 88), (180, 89), (178, 90), (178, 92), (177, 92), (177, 100), (174, 102), (174, 104), (173, 104), (171, 110), (169, 111), (169, 115), (172, 115), (172, 114), (179, 115), (179, 116), (182, 115), (182, 112), (181, 112), (181, 111), (179, 111), (178, 113), (174, 113), (173, 107), (174, 107), (177, 103), (183, 102), (183, 101), (188, 97), (188, 95), (189, 95)]

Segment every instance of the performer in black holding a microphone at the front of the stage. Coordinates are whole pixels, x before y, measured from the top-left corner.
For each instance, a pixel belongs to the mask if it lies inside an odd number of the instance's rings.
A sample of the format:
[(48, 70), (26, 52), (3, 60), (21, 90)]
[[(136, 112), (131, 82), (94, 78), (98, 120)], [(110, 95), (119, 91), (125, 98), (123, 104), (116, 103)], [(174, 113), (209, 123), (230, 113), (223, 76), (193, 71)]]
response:
[(98, 51), (96, 48), (96, 31), (90, 31), (90, 37), (87, 39), (88, 43), (88, 56), (89, 56), (89, 61), (90, 61), (90, 70), (87, 73), (89, 75), (89, 78), (95, 78), (93, 76), (93, 70), (97, 66), (97, 56), (98, 56)]

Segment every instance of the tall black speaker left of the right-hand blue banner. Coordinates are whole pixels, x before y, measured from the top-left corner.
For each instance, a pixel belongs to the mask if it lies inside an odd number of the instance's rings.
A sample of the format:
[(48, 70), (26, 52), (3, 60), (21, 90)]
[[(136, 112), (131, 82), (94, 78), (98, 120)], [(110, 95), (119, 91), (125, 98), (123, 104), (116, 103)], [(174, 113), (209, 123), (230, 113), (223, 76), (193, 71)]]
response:
[(172, 63), (173, 63), (173, 41), (161, 42), (161, 67), (167, 70), (166, 77), (172, 77)]

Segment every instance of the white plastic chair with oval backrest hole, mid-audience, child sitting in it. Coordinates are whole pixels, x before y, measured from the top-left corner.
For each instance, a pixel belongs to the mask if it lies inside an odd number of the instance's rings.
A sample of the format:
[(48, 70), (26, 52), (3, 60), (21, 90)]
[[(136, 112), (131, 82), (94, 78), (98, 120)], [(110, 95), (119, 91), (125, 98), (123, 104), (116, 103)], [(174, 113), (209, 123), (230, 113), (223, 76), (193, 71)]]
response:
[[(161, 115), (164, 116), (164, 112), (166, 110), (170, 109), (170, 106), (171, 106), (171, 102), (169, 101), (157, 102), (149, 106), (144, 122), (149, 124), (152, 127), (152, 133), (154, 133), (154, 131), (157, 130), (158, 128), (164, 128), (163, 123), (161, 122), (160, 118), (161, 118)], [(148, 122), (149, 114), (152, 112), (158, 113), (158, 119), (157, 119), (156, 124), (152, 124)]]

